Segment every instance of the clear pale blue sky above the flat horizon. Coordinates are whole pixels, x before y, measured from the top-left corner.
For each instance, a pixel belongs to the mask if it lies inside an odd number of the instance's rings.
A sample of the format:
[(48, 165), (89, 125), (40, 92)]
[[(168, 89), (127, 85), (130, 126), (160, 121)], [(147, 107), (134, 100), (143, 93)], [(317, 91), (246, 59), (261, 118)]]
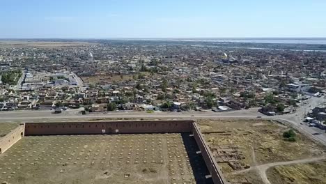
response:
[(0, 38), (326, 37), (326, 0), (1, 0)]

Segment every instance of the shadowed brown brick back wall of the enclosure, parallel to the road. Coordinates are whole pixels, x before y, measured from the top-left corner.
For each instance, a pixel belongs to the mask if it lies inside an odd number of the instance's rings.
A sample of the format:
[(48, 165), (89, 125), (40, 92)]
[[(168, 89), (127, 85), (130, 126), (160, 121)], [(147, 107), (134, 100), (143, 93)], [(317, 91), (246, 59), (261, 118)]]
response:
[(192, 132), (193, 121), (25, 123), (26, 135)]

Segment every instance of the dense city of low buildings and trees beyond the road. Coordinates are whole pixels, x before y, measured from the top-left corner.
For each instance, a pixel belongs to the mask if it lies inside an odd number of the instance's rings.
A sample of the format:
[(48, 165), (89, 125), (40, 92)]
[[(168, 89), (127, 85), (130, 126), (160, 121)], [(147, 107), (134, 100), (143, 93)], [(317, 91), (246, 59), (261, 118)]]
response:
[[(263, 114), (275, 115), (295, 112), (301, 102), (325, 93), (326, 52), (180, 41), (57, 44), (63, 47), (37, 42), (1, 47), (1, 110), (151, 113), (261, 107)], [(310, 114), (325, 121), (325, 107)]]

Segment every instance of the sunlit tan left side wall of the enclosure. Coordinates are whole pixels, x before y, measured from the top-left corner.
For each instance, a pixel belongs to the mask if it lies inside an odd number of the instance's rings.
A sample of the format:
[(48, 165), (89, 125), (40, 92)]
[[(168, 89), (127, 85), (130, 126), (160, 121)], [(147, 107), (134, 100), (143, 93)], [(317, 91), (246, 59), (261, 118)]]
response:
[(0, 154), (4, 153), (8, 148), (13, 146), (17, 141), (24, 137), (24, 124), (9, 132), (5, 137), (0, 138)]

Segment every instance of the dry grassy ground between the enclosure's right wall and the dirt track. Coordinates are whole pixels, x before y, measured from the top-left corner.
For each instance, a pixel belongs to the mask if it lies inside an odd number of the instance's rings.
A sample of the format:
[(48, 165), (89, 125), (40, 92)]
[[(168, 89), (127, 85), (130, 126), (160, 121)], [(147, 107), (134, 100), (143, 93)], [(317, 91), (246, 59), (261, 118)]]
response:
[[(243, 164), (251, 167), (256, 164), (300, 160), (323, 155), (325, 146), (297, 133), (297, 141), (284, 141), (283, 132), (289, 130), (276, 121), (261, 119), (252, 120), (199, 120), (201, 132), (211, 147), (233, 145), (238, 146), (244, 155)], [(254, 159), (255, 158), (255, 159)], [(231, 174), (233, 169), (228, 163), (219, 163), (226, 178), (237, 183), (240, 175)], [(255, 172), (242, 174), (251, 183), (261, 183)]]

